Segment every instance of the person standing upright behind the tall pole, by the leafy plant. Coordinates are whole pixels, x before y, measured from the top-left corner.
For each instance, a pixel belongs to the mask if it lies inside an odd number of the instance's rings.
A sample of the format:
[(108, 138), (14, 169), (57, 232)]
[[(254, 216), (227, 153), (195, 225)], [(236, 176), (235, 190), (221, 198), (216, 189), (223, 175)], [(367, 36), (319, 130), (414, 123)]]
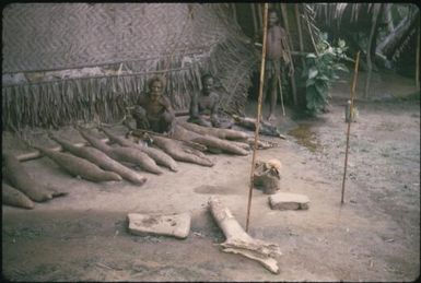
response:
[[(266, 74), (264, 84), (264, 97), (270, 93), (268, 121), (276, 120), (274, 110), (278, 99), (278, 84), (281, 78), (282, 61), (290, 64), (291, 58), (288, 50), (286, 33), (279, 25), (279, 16), (276, 10), (268, 11), (268, 32), (266, 42)], [(283, 68), (282, 68), (283, 69)]]

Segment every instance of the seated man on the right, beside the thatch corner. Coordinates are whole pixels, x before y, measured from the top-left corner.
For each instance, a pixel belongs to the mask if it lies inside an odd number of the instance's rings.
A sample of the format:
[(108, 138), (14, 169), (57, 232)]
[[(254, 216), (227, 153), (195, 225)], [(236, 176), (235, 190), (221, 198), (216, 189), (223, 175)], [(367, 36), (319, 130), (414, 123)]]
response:
[[(191, 97), (190, 117), (187, 121), (204, 127), (230, 128), (231, 125), (224, 125), (218, 117), (220, 96), (213, 90), (213, 76), (204, 74), (201, 81), (203, 87), (199, 94)], [(210, 115), (210, 120), (203, 115)]]

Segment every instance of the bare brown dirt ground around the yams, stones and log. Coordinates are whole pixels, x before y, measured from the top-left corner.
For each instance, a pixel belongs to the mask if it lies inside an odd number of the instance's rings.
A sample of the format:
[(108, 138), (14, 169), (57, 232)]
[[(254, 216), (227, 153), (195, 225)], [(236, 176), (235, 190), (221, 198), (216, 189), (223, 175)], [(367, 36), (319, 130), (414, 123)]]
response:
[[(304, 193), (306, 211), (272, 211), (254, 190), (249, 234), (281, 247), (280, 273), (224, 253), (207, 202), (214, 194), (245, 226), (252, 154), (210, 155), (214, 167), (179, 163), (136, 187), (72, 178), (46, 157), (24, 163), (69, 192), (26, 211), (2, 207), (2, 275), (13, 281), (413, 281), (420, 275), (420, 101), (413, 81), (376, 75), (351, 125), (346, 203), (340, 205), (350, 83), (331, 90), (331, 110), (278, 123), (286, 140), (258, 151), (283, 164), (281, 191)], [(363, 80), (360, 79), (362, 89)], [(419, 92), (419, 91), (418, 91)], [(255, 105), (250, 104), (250, 108)], [(279, 113), (281, 113), (279, 110)], [(82, 141), (69, 129), (69, 140)], [(3, 150), (26, 152), (3, 132)], [(46, 138), (38, 142), (46, 144)], [(50, 145), (55, 145), (49, 141)], [(135, 236), (127, 214), (190, 212), (189, 236)]]

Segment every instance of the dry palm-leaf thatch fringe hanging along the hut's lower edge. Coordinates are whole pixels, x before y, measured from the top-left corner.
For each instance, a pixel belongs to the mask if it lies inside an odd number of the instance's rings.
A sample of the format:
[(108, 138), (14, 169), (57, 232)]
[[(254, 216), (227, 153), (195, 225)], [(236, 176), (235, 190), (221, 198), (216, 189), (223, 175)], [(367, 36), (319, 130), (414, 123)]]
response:
[(3, 129), (57, 128), (95, 120), (115, 122), (147, 92), (148, 80), (156, 73), (166, 74), (166, 93), (176, 110), (188, 108), (190, 95), (201, 89), (204, 72), (214, 74), (225, 90), (226, 96), (221, 99), (224, 111), (244, 110), (252, 68), (257, 62), (252, 50), (242, 42), (225, 38), (201, 56), (187, 63), (183, 61), (186, 57), (172, 56), (173, 69), (168, 70), (160, 70), (166, 60), (160, 58), (143, 62), (142, 68), (127, 62), (126, 68), (139, 71), (133, 73), (3, 86)]

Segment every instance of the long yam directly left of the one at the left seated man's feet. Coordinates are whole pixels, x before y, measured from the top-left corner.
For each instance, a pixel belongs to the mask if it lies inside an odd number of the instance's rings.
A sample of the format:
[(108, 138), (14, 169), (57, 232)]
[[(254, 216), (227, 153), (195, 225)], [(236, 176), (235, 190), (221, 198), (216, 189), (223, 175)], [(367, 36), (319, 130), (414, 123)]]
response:
[(157, 149), (153, 149), (153, 148), (149, 148), (149, 146), (144, 146), (144, 145), (139, 144), (139, 143), (135, 143), (133, 141), (130, 141), (129, 139), (118, 137), (117, 134), (114, 134), (110, 131), (108, 131), (102, 127), (100, 127), (98, 129), (101, 131), (103, 131), (109, 138), (109, 140), (112, 142), (115, 142), (121, 146), (137, 149), (137, 150), (148, 154), (152, 160), (154, 160), (156, 162), (156, 164), (165, 166), (173, 172), (178, 170), (177, 163), (175, 162), (175, 160), (173, 160), (173, 157), (171, 157), (168, 154), (164, 153), (163, 151), (157, 150)]

